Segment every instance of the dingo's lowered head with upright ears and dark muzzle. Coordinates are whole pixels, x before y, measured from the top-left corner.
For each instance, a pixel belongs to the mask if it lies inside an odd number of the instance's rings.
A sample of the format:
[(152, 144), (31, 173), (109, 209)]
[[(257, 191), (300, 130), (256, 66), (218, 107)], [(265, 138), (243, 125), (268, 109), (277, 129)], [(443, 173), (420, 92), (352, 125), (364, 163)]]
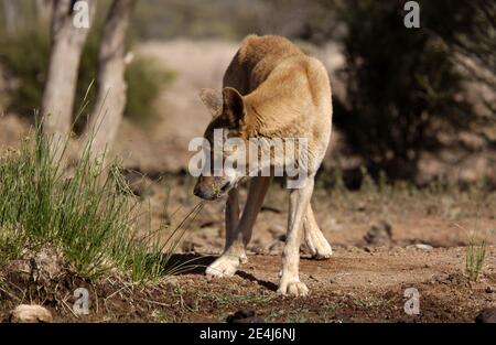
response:
[(212, 201), (227, 193), (246, 176), (239, 166), (226, 169), (229, 164), (225, 164), (226, 161), (235, 160), (237, 155), (246, 154), (245, 150), (237, 150), (236, 147), (225, 144), (226, 140), (245, 142), (248, 140), (247, 126), (244, 121), (246, 109), (242, 96), (231, 87), (224, 88), (222, 99), (211, 89), (203, 89), (200, 96), (213, 115), (204, 133), (204, 138), (208, 141), (208, 148), (204, 148), (204, 154), (206, 159), (209, 159), (211, 164), (208, 171), (203, 172), (198, 177), (194, 194)]

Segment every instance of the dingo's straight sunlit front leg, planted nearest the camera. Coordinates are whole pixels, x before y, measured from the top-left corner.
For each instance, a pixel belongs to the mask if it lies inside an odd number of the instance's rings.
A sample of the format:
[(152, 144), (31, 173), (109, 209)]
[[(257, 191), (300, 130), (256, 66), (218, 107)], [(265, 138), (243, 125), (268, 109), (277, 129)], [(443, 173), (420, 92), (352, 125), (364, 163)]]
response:
[(300, 244), (303, 233), (303, 218), (312, 197), (314, 185), (313, 176), (306, 179), (304, 186), (292, 190), (290, 193), (290, 207), (288, 217), (288, 236), (282, 252), (282, 272), (279, 282), (279, 294), (306, 295), (309, 289), (300, 281)]

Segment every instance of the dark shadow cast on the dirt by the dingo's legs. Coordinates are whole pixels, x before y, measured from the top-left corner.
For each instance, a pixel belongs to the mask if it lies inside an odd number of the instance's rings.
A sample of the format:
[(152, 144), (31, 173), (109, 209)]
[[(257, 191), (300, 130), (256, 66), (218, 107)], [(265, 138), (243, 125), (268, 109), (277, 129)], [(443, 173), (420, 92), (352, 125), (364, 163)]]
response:
[[(217, 259), (217, 256), (203, 256), (200, 254), (174, 254), (164, 262), (164, 270), (174, 276), (182, 274), (205, 274), (205, 270), (212, 262)], [(238, 270), (236, 276), (257, 282), (259, 285), (269, 290), (277, 291), (278, 285), (273, 282), (261, 280), (254, 274)]]

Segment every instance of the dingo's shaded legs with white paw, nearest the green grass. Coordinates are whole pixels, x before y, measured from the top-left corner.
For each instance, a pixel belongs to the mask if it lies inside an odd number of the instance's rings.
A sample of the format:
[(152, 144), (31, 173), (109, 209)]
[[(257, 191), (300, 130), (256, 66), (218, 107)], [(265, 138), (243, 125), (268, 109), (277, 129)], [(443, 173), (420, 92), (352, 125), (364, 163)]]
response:
[[(247, 261), (245, 248), (251, 239), (255, 220), (260, 212), (271, 177), (254, 177), (248, 200), (239, 219), (238, 196), (229, 193), (226, 205), (226, 247), (224, 254), (206, 269), (208, 277), (231, 277), (240, 263)], [(238, 208), (236, 208), (238, 207)]]

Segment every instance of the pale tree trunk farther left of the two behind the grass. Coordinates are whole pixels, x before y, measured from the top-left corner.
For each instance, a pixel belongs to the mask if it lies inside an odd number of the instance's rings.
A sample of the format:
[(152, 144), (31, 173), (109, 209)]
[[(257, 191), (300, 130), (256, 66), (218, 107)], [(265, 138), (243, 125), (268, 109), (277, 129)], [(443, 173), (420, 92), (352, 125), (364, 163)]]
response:
[[(51, 141), (53, 158), (61, 158), (71, 134), (74, 97), (80, 55), (89, 29), (74, 25), (74, 0), (55, 0), (52, 19), (52, 50), (43, 93), (42, 115), (44, 134)], [(93, 0), (86, 0), (89, 9)], [(93, 10), (87, 13), (91, 14)], [(80, 13), (77, 13), (80, 14)]]

